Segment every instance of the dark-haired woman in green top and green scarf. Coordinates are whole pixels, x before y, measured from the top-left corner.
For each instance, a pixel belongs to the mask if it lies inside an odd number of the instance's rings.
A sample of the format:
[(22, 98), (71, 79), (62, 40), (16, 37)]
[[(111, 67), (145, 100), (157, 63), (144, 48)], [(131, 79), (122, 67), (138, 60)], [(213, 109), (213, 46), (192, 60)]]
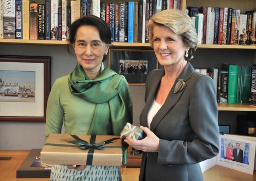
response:
[[(62, 124), (68, 134), (120, 135), (126, 122), (132, 122), (132, 100), (124, 76), (102, 63), (111, 43), (110, 29), (90, 15), (76, 20), (69, 31), (78, 63), (53, 84), (45, 140), (61, 133)], [(121, 174), (115, 166), (54, 165), (51, 180), (121, 180)]]

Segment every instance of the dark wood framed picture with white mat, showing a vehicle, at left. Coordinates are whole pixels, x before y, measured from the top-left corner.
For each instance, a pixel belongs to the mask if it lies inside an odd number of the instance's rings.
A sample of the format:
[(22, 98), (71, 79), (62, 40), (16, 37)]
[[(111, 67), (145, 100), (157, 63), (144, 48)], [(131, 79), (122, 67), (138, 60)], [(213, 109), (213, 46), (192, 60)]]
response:
[(44, 122), (51, 57), (0, 55), (0, 121)]

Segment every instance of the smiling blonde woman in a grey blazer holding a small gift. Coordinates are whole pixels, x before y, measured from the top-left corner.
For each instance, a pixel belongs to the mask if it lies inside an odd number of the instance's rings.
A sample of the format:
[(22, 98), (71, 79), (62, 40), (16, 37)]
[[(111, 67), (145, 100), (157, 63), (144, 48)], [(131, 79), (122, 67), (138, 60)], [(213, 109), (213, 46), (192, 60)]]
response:
[(149, 73), (140, 114), (145, 139), (125, 142), (143, 151), (140, 180), (203, 180), (199, 162), (219, 153), (216, 89), (189, 63), (197, 34), (187, 14), (164, 10), (151, 17), (149, 42), (163, 70)]

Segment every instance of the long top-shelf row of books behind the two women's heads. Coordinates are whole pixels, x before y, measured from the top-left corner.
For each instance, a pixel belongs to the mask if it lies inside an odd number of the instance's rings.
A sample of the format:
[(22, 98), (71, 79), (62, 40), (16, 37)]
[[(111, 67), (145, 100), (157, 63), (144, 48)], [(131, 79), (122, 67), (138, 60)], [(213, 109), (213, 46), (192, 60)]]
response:
[(151, 16), (180, 5), (181, 0), (0, 0), (0, 38), (67, 40), (70, 24), (93, 14), (110, 26), (111, 41), (143, 43)]

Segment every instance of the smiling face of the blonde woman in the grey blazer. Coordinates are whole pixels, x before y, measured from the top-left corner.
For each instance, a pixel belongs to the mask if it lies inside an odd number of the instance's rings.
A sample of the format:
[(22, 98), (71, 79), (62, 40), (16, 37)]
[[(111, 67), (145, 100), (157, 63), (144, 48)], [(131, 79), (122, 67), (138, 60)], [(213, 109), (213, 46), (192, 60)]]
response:
[(153, 47), (159, 64), (171, 66), (185, 60), (185, 51), (189, 48), (180, 35), (159, 25), (154, 26), (153, 34)]

